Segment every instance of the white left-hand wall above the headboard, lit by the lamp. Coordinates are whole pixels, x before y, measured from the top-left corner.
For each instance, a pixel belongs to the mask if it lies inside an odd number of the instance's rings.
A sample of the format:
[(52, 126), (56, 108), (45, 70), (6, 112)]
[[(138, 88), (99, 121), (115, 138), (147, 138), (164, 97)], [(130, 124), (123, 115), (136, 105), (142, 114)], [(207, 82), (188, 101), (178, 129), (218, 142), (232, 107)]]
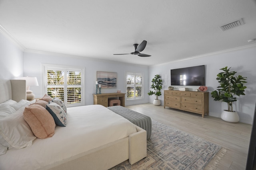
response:
[(23, 74), (23, 52), (0, 33), (0, 79), (14, 79)]

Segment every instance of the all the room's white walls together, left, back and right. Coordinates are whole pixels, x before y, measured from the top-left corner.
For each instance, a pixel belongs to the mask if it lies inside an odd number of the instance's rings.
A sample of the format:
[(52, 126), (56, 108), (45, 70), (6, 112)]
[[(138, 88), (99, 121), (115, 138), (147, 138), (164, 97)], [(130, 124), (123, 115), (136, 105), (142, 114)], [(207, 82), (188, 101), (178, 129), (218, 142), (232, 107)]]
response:
[[(116, 92), (118, 89), (125, 92), (125, 72), (141, 72), (144, 74), (144, 99), (126, 101), (126, 106), (152, 102), (154, 96), (148, 96), (151, 80), (155, 74), (160, 74), (163, 79), (163, 90), (170, 86), (170, 69), (188, 66), (206, 66), (206, 86), (208, 92), (212, 92), (218, 86), (216, 74), (224, 66), (232, 67), (242, 76), (248, 77), (246, 84), (246, 96), (240, 96), (235, 102), (234, 109), (240, 116), (240, 121), (252, 124), (254, 107), (256, 103), (256, 47), (240, 48), (232, 51), (192, 58), (184, 61), (176, 61), (156, 66), (140, 66), (134, 64), (117, 63), (110, 61), (94, 60), (90, 58), (81, 59), (74, 56), (58, 56), (51, 54), (23, 53), (14, 43), (0, 33), (0, 79), (14, 79), (18, 76), (36, 76), (39, 86), (30, 87), (36, 98), (42, 97), (42, 63), (62, 64), (71, 66), (82, 66), (85, 68), (85, 102), (86, 105), (93, 104), (92, 94), (95, 93), (95, 81), (97, 71), (117, 72), (117, 88), (102, 89), (102, 93)], [(24, 64), (23, 64), (24, 63)], [(147, 86), (148, 83), (148, 86)], [(194, 91), (198, 86), (189, 86), (189, 90)], [(163, 91), (162, 91), (163, 92)], [(164, 95), (159, 99), (164, 102)], [(216, 102), (209, 97), (210, 115), (220, 117), (226, 103)]]

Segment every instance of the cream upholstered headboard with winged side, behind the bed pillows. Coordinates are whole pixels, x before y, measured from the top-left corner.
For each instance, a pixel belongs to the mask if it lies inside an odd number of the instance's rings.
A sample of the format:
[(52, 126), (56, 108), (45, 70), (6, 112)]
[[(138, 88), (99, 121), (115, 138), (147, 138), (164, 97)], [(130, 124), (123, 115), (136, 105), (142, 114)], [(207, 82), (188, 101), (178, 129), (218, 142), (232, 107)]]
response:
[(26, 80), (0, 80), (0, 103), (26, 100)]

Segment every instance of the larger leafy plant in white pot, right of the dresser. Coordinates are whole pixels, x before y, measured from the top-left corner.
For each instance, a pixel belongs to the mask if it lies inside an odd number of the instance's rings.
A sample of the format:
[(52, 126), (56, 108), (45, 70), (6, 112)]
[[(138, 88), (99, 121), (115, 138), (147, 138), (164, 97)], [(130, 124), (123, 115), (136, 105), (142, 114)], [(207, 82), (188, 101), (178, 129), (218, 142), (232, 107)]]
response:
[(245, 81), (247, 77), (235, 76), (237, 72), (230, 71), (230, 68), (226, 66), (220, 69), (223, 72), (218, 73), (216, 78), (216, 80), (219, 80), (220, 86), (211, 94), (215, 101), (220, 100), (228, 104), (228, 109), (222, 111), (221, 118), (224, 121), (236, 123), (239, 121), (239, 116), (236, 111), (233, 111), (232, 102), (237, 101), (236, 96), (245, 95), (244, 89), (246, 89), (246, 86), (244, 86), (244, 83), (247, 83)]

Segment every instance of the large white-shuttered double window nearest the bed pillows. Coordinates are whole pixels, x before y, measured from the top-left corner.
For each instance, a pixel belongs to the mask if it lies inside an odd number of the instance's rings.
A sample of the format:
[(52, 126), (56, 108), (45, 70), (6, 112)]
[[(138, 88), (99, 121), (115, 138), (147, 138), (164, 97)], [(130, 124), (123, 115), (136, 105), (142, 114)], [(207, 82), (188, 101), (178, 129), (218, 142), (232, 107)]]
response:
[(60, 98), (66, 106), (79, 106), (83, 100), (84, 69), (79, 67), (44, 64), (44, 92)]

